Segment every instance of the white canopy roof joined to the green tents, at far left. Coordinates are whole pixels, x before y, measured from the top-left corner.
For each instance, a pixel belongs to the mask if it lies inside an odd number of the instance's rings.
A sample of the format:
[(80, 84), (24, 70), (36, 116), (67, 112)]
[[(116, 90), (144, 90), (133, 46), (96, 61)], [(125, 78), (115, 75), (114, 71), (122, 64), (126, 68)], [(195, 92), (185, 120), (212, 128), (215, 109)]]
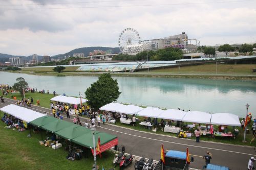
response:
[(26, 122), (31, 122), (32, 120), (45, 116), (45, 114), (38, 113), (36, 111), (33, 111), (31, 109), (27, 109), (24, 107), (20, 107), (17, 105), (8, 105), (0, 109), (1, 111), (8, 113), (14, 117), (17, 117), (19, 119), (22, 119)]

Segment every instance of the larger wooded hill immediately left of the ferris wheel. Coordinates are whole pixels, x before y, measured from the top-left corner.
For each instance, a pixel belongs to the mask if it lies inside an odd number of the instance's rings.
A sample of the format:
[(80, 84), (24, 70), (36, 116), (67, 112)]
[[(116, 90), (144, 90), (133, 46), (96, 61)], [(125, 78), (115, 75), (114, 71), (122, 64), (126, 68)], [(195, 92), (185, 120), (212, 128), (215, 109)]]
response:
[(76, 48), (75, 50), (72, 50), (65, 54), (58, 54), (56, 56), (52, 56), (54, 59), (63, 59), (64, 56), (70, 56), (73, 57), (73, 54), (75, 53), (83, 53), (84, 56), (89, 56), (90, 52), (93, 52), (94, 50), (112, 50), (112, 54), (118, 54), (120, 52), (119, 47), (103, 47), (103, 46), (90, 46), (90, 47), (82, 47), (82, 48)]

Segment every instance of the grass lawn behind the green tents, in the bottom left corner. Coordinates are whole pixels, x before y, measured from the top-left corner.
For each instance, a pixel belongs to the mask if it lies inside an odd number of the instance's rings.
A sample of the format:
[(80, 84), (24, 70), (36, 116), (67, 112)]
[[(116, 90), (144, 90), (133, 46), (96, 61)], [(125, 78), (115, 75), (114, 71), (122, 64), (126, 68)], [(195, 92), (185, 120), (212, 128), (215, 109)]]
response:
[[(3, 115), (3, 112), (1, 113)], [(92, 169), (94, 164), (93, 156), (89, 153), (88, 158), (70, 161), (66, 159), (68, 152), (65, 147), (57, 151), (52, 148), (39, 145), (41, 135), (32, 133), (29, 138), (29, 130), (18, 132), (4, 128), (5, 124), (0, 123), (0, 169)], [(101, 168), (113, 167), (113, 153), (106, 151), (102, 158), (97, 156), (97, 165)]]

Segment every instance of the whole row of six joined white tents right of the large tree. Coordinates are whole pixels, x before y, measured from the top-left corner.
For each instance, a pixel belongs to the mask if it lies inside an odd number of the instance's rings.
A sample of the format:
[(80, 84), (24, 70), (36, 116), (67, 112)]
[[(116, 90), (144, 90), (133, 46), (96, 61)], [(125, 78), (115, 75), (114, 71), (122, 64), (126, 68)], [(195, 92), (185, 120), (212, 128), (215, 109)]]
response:
[(138, 115), (143, 117), (163, 118), (211, 125), (241, 126), (239, 116), (231, 113), (209, 114), (201, 111), (184, 112), (178, 109), (162, 110), (155, 107), (142, 108), (135, 105), (123, 105), (120, 103), (110, 103), (99, 108), (100, 110), (118, 112), (123, 114)]

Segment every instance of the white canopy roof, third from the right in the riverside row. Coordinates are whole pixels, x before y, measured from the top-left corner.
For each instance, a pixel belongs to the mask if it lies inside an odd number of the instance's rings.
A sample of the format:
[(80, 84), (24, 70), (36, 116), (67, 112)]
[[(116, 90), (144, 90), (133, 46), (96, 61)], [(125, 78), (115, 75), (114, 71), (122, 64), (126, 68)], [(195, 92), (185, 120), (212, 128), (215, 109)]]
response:
[(177, 109), (167, 109), (167, 110), (164, 110), (161, 114), (159, 114), (157, 118), (182, 121), (186, 113), (187, 112), (177, 110)]

